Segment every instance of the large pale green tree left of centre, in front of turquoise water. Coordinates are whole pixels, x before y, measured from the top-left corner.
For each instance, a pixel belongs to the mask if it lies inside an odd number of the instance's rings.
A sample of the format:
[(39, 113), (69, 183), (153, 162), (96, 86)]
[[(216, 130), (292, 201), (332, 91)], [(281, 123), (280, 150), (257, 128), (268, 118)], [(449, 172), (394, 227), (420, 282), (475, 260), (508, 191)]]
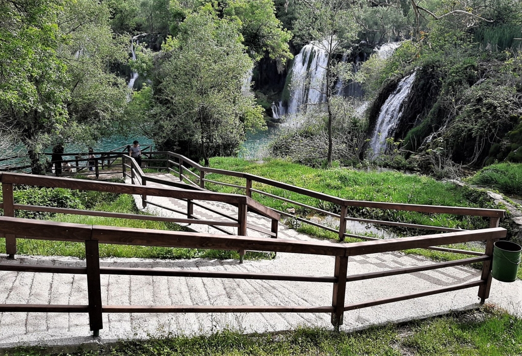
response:
[(236, 152), (245, 129), (264, 125), (262, 108), (241, 86), (252, 60), (236, 25), (210, 6), (189, 14), (163, 46), (153, 81), (153, 134), (208, 166), (212, 155)]

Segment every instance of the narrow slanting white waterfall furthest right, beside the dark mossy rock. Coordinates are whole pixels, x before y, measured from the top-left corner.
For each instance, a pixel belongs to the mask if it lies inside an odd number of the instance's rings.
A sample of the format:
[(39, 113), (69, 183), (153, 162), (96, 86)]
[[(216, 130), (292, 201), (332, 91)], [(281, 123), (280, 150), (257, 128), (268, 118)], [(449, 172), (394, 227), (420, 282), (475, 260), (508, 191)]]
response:
[(386, 139), (394, 133), (397, 124), (402, 117), (404, 103), (408, 98), (411, 86), (415, 81), (416, 72), (402, 78), (395, 91), (388, 96), (379, 112), (375, 122), (375, 131), (370, 141), (370, 147), (374, 156), (381, 154), (386, 147)]

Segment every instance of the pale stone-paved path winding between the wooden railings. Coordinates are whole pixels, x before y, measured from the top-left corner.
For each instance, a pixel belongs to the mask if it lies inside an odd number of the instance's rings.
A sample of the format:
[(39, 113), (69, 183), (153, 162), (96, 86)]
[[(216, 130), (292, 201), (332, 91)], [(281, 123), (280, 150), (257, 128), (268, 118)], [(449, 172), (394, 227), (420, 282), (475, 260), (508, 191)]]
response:
[[(161, 204), (185, 202), (153, 198)], [(136, 202), (141, 204), (140, 197)], [(213, 204), (218, 210), (234, 208)], [(148, 207), (156, 211), (155, 207)], [(156, 211), (168, 215), (164, 210)], [(195, 215), (204, 217), (195, 207)], [(205, 214), (208, 214), (205, 213)], [(216, 218), (216, 215), (206, 216)], [(249, 213), (249, 222), (269, 226), (268, 220)], [(193, 224), (192, 228), (208, 227)], [(280, 225), (279, 238), (313, 240), (309, 236)], [(212, 228), (210, 228), (212, 229)], [(253, 231), (249, 230), (249, 235)], [(325, 242), (330, 243), (330, 242)], [(23, 256), (15, 261), (0, 257), (0, 262), (45, 263), (52, 265), (85, 266), (85, 261), (73, 257)], [(423, 257), (402, 253), (382, 253), (350, 257), (349, 274), (383, 271), (405, 266), (432, 263)], [(145, 260), (102, 259), (103, 266), (202, 269), (205, 271), (235, 271), (258, 273), (295, 273), (327, 275), (334, 272), (334, 257), (278, 253), (275, 260)], [(464, 283), (480, 277), (477, 269), (449, 267), (436, 271), (377, 278), (349, 283), (347, 303), (394, 296), (415, 291)], [(260, 281), (241, 279), (210, 279), (147, 276), (101, 276), (104, 304), (122, 305), (330, 305), (330, 284)], [(400, 322), (411, 318), (446, 313), (450, 310), (473, 308), (478, 302), (478, 288), (447, 292), (409, 301), (390, 303), (372, 308), (345, 312), (343, 330), (353, 330), (375, 324)], [(87, 296), (85, 275), (34, 274), (0, 272), (0, 302), (84, 304)], [(489, 302), (522, 316), (522, 281), (512, 284), (493, 281)], [(0, 315), (0, 347), (14, 345), (67, 345), (93, 342), (89, 337), (86, 314), (63, 313), (2, 313)], [(144, 338), (147, 335), (208, 333), (229, 327), (244, 332), (277, 331), (298, 326), (331, 328), (328, 314), (292, 313), (201, 313), (201, 314), (104, 314), (104, 328), (97, 341)], [(97, 342), (96, 341), (96, 342)]]

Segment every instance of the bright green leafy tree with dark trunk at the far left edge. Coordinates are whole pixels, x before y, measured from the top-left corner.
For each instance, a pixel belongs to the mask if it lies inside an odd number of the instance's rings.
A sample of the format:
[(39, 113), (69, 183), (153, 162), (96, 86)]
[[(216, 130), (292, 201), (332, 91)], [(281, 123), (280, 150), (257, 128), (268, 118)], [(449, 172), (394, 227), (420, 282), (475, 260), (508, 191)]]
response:
[(58, 57), (58, 1), (0, 0), (0, 131), (26, 146), (33, 173), (49, 136), (67, 122), (66, 66)]

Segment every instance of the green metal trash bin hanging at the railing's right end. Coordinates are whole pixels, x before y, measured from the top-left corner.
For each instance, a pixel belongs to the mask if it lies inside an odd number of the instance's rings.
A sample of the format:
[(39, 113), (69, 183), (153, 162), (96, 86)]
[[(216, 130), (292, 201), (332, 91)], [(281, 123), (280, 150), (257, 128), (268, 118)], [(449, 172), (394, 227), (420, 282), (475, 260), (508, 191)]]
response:
[(496, 241), (493, 248), (493, 267), (491, 275), (501, 282), (514, 282), (517, 279), (522, 247), (511, 241)]

